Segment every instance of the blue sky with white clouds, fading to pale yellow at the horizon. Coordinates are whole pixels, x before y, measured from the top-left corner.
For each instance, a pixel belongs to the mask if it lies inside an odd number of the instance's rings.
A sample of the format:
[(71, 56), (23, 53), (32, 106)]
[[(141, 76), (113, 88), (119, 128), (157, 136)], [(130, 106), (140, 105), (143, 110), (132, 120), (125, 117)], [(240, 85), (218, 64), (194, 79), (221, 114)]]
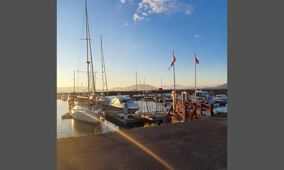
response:
[[(227, 83), (227, 1), (87, 0), (96, 88)], [(87, 85), (85, 0), (57, 0), (57, 87)], [(89, 42), (88, 42), (88, 50)], [(176, 62), (169, 69), (173, 53)], [(90, 61), (90, 51), (88, 51)], [(91, 71), (91, 65), (89, 65)], [(104, 73), (104, 74), (105, 74)], [(104, 75), (105, 76), (105, 75)], [(140, 81), (140, 83), (139, 83)], [(105, 82), (105, 80), (104, 80)]]

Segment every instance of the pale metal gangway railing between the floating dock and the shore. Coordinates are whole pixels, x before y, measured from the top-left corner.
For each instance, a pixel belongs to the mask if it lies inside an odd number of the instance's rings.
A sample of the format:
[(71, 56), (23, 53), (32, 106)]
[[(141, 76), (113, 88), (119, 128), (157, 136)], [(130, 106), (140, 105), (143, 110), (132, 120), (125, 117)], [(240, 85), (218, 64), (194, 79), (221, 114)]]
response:
[(136, 107), (129, 107), (130, 113), (135, 115), (149, 115), (149, 114), (156, 114), (163, 112), (166, 114), (166, 111), (170, 109), (171, 102), (164, 102), (164, 103), (155, 103), (143, 106), (136, 106)]

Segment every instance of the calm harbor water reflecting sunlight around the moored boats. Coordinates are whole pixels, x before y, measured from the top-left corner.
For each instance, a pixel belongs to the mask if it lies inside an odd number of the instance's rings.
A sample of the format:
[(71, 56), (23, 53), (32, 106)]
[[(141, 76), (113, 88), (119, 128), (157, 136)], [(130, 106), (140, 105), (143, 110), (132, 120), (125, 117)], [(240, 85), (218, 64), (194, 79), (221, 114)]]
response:
[[(109, 97), (112, 99), (115, 96)], [(140, 105), (142, 103), (141, 99), (134, 99), (133, 101), (135, 103), (140, 103)], [(147, 100), (147, 104), (154, 104), (153, 99)], [(146, 105), (146, 102), (143, 101), (142, 105)], [(216, 112), (216, 109), (218, 109), (218, 111), (227, 112), (226, 105), (222, 105), (220, 107), (214, 106), (213, 111)], [(67, 112), (71, 112), (71, 110), (69, 110), (67, 107), (67, 101), (57, 100), (57, 138), (67, 137), (68, 135), (74, 135), (75, 133), (78, 133), (78, 135), (89, 135), (91, 133), (94, 133), (95, 129), (97, 129), (97, 131), (99, 131), (100, 133), (126, 129), (124, 127), (112, 124), (107, 120), (105, 120), (103, 124), (89, 124), (74, 119), (62, 119), (61, 116)], [(103, 118), (100, 119), (102, 120)], [(110, 128), (110, 126), (114, 127), (116, 130)]]

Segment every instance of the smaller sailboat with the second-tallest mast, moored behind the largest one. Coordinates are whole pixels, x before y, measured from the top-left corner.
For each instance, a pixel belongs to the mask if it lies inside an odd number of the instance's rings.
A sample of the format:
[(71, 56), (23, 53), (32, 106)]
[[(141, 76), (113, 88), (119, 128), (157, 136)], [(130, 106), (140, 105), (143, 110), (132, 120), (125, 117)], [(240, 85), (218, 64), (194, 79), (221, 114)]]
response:
[[(103, 67), (105, 69), (105, 61), (103, 61), (103, 45), (102, 45), (102, 36), (101, 36), (101, 56), (102, 56), (102, 75), (103, 75), (103, 93), (101, 93), (101, 95), (97, 96), (97, 102), (100, 105), (103, 106), (109, 106), (110, 105), (110, 99), (108, 98), (108, 90), (107, 90), (107, 83), (106, 84), (106, 94), (107, 97), (104, 95), (104, 71), (103, 71)], [(106, 80), (106, 73), (105, 73), (105, 80)]]

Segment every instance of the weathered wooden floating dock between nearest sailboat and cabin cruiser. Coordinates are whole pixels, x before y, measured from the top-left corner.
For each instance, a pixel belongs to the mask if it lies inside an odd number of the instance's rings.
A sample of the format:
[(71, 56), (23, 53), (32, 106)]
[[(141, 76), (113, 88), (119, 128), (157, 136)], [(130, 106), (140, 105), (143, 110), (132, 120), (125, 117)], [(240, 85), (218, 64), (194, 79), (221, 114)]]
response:
[(102, 112), (106, 118), (121, 126), (142, 126), (145, 124), (145, 118), (128, 114), (128, 119), (124, 120), (124, 112), (102, 106)]

